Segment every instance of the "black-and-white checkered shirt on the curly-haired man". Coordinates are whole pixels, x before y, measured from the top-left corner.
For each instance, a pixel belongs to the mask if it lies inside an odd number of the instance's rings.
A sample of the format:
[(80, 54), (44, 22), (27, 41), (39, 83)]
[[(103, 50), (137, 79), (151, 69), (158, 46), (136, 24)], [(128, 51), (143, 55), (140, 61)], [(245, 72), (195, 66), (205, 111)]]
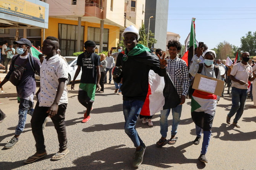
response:
[(190, 78), (188, 76), (188, 68), (186, 66), (186, 62), (184, 60), (176, 57), (175, 59), (167, 60), (167, 72), (169, 73), (174, 86), (178, 94), (185, 95), (188, 93), (188, 83)]

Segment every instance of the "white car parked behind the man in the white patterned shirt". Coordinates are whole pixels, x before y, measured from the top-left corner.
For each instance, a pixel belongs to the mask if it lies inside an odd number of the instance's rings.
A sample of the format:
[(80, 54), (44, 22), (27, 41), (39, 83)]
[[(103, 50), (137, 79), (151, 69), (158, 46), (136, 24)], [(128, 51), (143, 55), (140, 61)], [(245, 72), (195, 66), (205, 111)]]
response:
[[(78, 67), (76, 65), (77, 57), (76, 56), (67, 56), (67, 57), (65, 57), (65, 59), (68, 63), (68, 82), (67, 82), (67, 84), (69, 84), (70, 81), (73, 81), (73, 78), (74, 78), (75, 73), (76, 73), (76, 69)], [(79, 75), (76, 78), (76, 81), (81, 79), (81, 74), (82, 74), (82, 71), (80, 71)], [(36, 82), (40, 82), (40, 76), (39, 75), (35, 75), (35, 78), (36, 78)]]

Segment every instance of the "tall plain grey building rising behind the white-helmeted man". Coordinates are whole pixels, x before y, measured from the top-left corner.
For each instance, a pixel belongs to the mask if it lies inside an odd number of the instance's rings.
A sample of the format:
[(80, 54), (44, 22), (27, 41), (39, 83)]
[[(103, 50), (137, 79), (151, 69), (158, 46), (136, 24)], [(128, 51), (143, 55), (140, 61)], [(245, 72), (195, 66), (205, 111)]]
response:
[(153, 48), (160, 48), (165, 50), (166, 47), (166, 32), (168, 21), (168, 5), (169, 0), (146, 0), (145, 10), (145, 32), (148, 32), (149, 18), (150, 26), (149, 30), (155, 34), (157, 43), (153, 44)]

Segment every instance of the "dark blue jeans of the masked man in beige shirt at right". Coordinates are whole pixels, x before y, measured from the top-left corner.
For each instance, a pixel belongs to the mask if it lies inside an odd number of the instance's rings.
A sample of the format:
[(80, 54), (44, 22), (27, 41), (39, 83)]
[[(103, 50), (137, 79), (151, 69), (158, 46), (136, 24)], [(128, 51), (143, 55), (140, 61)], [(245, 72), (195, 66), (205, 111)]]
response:
[(232, 117), (236, 114), (234, 123), (237, 123), (243, 114), (245, 108), (245, 100), (247, 97), (247, 89), (238, 89), (232, 87), (232, 107), (228, 113), (228, 117)]

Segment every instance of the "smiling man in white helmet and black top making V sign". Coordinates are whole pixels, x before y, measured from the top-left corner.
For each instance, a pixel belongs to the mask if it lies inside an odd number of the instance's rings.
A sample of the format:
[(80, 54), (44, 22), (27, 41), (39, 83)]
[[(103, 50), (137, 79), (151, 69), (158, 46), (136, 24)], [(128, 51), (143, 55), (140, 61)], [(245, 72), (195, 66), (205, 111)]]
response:
[(149, 48), (138, 44), (139, 31), (134, 26), (127, 27), (122, 33), (125, 51), (117, 56), (116, 67), (113, 68), (113, 80), (119, 83), (122, 79), (123, 114), (125, 116), (125, 133), (136, 147), (133, 167), (143, 161), (145, 144), (139, 137), (135, 125), (147, 96), (149, 70), (160, 76), (166, 75), (166, 60), (160, 59)]

